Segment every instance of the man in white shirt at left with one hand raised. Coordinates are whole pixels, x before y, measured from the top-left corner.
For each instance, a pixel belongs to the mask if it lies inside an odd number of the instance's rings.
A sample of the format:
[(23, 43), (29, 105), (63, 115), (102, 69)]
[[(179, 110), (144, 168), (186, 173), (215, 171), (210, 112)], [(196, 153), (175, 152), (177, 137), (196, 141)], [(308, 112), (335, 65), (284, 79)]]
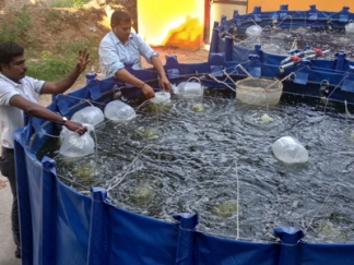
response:
[(13, 132), (24, 125), (24, 112), (60, 123), (80, 135), (87, 131), (83, 124), (70, 121), (38, 104), (38, 94), (61, 94), (70, 88), (90, 62), (86, 49), (79, 51), (75, 69), (58, 82), (38, 81), (26, 76), (25, 60), (24, 49), (20, 45), (12, 41), (0, 45), (0, 147), (2, 150), (0, 169), (2, 176), (9, 179), (13, 195), (11, 222), (13, 239), (17, 246), (15, 251), (16, 257), (21, 257), (21, 240)]

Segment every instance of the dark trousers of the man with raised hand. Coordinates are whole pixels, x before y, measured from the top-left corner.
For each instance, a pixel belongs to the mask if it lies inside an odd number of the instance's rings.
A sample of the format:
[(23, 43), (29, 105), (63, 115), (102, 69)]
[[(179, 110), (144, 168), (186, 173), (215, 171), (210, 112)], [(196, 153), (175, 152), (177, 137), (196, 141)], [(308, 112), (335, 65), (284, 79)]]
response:
[(13, 196), (12, 209), (11, 209), (11, 225), (12, 225), (13, 240), (16, 245), (21, 245), (19, 207), (17, 207), (17, 186), (16, 186), (16, 173), (15, 173), (13, 149), (2, 147), (2, 155), (0, 157), (0, 169), (2, 176), (7, 177), (10, 182), (10, 188)]

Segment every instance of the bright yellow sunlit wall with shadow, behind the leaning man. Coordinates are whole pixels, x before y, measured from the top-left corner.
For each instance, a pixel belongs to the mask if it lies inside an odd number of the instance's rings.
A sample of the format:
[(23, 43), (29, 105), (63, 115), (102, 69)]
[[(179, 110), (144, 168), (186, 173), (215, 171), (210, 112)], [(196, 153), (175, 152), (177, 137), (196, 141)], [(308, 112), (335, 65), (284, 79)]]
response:
[(204, 0), (138, 0), (138, 33), (152, 46), (203, 46)]

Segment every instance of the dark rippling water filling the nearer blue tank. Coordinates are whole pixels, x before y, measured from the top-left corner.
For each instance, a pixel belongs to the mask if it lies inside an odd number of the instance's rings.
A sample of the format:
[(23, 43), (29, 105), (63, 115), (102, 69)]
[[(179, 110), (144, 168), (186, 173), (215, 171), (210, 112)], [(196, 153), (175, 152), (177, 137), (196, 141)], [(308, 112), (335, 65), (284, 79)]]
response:
[[(272, 241), (275, 227), (292, 226), (306, 241), (354, 241), (353, 125), (343, 113), (290, 98), (264, 123), (266, 107), (217, 93), (153, 109), (98, 128), (96, 159), (49, 154), (62, 181), (79, 191), (103, 186), (115, 205), (167, 221), (198, 213), (198, 229), (219, 236), (236, 237), (238, 227), (240, 238)], [(308, 162), (273, 156), (285, 135), (304, 144)]]

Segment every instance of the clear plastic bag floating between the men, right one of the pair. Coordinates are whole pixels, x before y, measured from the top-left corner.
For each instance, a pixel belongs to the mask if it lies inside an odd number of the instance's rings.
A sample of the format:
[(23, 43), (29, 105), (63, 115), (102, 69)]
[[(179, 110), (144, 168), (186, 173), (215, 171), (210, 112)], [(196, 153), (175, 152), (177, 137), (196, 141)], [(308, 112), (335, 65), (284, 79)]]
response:
[(135, 110), (120, 100), (113, 100), (105, 107), (105, 117), (113, 121), (128, 121), (137, 117)]

